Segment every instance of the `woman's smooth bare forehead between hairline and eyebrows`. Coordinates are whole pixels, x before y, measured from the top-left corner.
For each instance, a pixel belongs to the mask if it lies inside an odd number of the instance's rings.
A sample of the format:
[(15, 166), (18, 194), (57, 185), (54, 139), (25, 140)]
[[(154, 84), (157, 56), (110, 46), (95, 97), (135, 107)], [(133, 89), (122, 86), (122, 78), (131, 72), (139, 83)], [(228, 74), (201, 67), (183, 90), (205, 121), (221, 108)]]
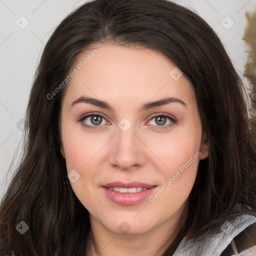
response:
[(86, 94), (134, 104), (166, 96), (194, 101), (189, 81), (174, 63), (152, 49), (95, 44), (79, 54), (74, 69), (65, 93), (69, 100)]

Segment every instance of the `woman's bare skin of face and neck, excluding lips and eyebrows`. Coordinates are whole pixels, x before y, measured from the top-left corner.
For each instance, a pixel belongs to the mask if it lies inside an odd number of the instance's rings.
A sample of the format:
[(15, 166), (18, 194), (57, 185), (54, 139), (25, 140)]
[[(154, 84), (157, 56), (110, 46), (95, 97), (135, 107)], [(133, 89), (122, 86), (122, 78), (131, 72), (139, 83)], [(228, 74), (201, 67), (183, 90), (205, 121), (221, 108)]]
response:
[[(114, 44), (94, 46), (99, 52), (72, 78), (62, 98), (60, 152), (67, 172), (75, 169), (80, 175), (70, 184), (89, 211), (100, 256), (124, 251), (125, 255), (161, 255), (169, 244), (158, 251), (160, 246), (171, 234), (175, 236), (175, 225), (183, 221), (179, 218), (186, 210), (199, 160), (208, 156), (196, 98), (184, 75), (178, 80), (169, 75), (175, 65), (159, 52)], [(82, 52), (73, 67), (92, 51)], [(71, 106), (82, 95), (104, 100), (114, 110), (85, 102)], [(178, 98), (186, 106), (171, 102), (138, 111), (143, 103), (166, 96)], [(92, 112), (103, 115), (99, 125), (90, 116), (78, 121)], [(161, 114), (169, 114), (177, 122), (152, 118)], [(118, 126), (123, 118), (131, 123), (126, 131)], [(161, 128), (170, 123), (172, 126)], [(156, 192), (198, 151), (201, 155), (153, 202), (146, 198), (138, 204), (119, 205), (102, 191), (101, 186), (111, 181), (137, 180), (157, 185)], [(118, 228), (123, 221), (130, 226), (127, 233)], [(91, 240), (86, 246), (89, 249)], [(88, 255), (94, 253), (92, 246)]]

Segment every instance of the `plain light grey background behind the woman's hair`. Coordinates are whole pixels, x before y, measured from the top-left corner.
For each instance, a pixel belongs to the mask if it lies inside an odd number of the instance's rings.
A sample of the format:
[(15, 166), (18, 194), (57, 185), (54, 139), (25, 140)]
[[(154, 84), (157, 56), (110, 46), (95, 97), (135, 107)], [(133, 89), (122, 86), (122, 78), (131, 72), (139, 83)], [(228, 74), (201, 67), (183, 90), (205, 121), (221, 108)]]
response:
[[(6, 174), (22, 137), (22, 118), (42, 49), (57, 24), (84, 2), (86, 0), (0, 0), (0, 199), (11, 178), (11, 172)], [(242, 40), (244, 13), (255, 11), (256, 0), (175, 2), (192, 8), (217, 32), (242, 77), (246, 61)], [(248, 86), (244, 78), (243, 81)]]

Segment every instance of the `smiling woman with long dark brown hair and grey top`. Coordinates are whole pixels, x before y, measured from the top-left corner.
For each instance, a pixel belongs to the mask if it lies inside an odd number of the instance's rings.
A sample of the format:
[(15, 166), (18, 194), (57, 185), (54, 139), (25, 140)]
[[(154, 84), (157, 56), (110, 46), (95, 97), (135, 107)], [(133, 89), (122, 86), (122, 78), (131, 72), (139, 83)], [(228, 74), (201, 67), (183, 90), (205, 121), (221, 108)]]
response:
[(238, 74), (194, 12), (81, 5), (36, 71), (0, 255), (255, 253), (252, 123)]

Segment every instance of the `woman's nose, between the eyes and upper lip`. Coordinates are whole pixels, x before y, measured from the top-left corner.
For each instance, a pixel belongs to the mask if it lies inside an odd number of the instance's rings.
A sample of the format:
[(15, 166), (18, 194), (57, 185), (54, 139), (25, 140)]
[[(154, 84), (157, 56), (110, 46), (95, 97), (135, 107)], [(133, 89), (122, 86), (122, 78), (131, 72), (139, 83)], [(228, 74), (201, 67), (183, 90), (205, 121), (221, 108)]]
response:
[(126, 131), (118, 126), (110, 148), (109, 163), (114, 167), (129, 170), (139, 168), (145, 163), (146, 146), (134, 125), (131, 125)]

